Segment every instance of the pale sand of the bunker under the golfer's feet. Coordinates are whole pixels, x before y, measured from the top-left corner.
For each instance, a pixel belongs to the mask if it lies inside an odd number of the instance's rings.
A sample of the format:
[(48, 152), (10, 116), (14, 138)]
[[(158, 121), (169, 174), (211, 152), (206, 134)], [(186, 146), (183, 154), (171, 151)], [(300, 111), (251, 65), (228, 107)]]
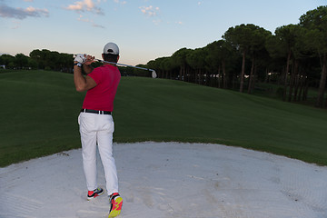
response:
[[(326, 218), (327, 167), (220, 144), (114, 144), (120, 217)], [(98, 158), (98, 182), (104, 170)], [(0, 168), (0, 217), (107, 217), (81, 150)]]

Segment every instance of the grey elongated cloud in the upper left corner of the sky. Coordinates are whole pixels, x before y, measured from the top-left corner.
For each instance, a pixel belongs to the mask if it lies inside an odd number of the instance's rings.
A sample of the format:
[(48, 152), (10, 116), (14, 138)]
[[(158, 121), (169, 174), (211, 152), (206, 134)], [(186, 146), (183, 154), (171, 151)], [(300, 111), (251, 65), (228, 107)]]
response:
[(33, 6), (29, 6), (27, 8), (21, 7), (10, 7), (5, 4), (0, 5), (0, 16), (5, 18), (15, 18), (23, 20), (29, 16), (31, 17), (43, 17), (48, 16), (49, 11), (47, 9), (39, 9)]

